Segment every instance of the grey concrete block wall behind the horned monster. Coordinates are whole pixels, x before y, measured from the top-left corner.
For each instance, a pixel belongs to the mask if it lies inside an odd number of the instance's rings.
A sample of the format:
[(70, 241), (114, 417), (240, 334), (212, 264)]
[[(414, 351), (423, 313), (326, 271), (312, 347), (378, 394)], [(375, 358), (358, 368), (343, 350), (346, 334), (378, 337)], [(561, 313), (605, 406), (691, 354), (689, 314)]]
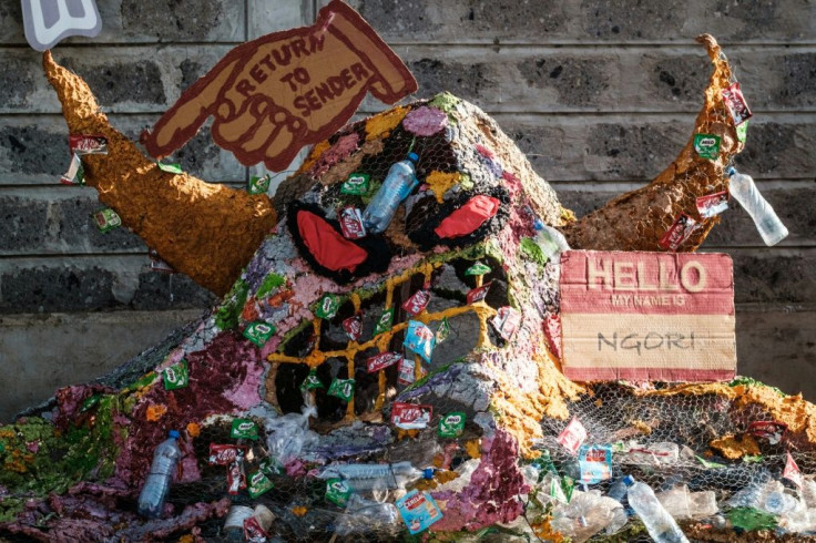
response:
[[(96, 0), (102, 34), (54, 49), (136, 139), (232, 47), (307, 24), (326, 0)], [(646, 183), (685, 144), (710, 74), (702, 32), (735, 66), (755, 117), (740, 170), (790, 230), (766, 248), (738, 207), (705, 250), (735, 264), (740, 372), (816, 399), (816, 4), (807, 0), (351, 0), (405, 59), (418, 96), (449, 90), (494, 115), (583, 215)], [(100, 234), (90, 188), (59, 184), (67, 129), (0, 6), (0, 421), (150, 347), (215, 300), (149, 270), (146, 247)], [(381, 106), (366, 100), (361, 113)], [(175, 158), (241, 187), (253, 173), (201, 133)], [(277, 175), (278, 180), (285, 173)]]

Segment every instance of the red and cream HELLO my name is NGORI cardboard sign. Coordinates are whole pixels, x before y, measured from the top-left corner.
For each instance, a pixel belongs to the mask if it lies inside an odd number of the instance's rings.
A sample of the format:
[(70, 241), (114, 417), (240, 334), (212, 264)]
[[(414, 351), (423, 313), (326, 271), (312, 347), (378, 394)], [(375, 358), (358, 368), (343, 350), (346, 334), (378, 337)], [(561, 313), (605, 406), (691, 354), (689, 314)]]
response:
[(564, 253), (564, 375), (579, 381), (734, 378), (733, 277), (723, 254)]

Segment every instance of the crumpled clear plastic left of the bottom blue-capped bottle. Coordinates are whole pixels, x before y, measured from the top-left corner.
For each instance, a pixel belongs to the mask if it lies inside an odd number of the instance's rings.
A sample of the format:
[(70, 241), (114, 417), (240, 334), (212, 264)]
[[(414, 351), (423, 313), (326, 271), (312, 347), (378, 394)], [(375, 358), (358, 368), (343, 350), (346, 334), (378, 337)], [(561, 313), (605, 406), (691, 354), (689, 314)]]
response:
[(626, 524), (623, 505), (598, 490), (575, 490), (570, 503), (553, 503), (552, 527), (574, 543), (584, 542), (602, 530), (614, 533)]

